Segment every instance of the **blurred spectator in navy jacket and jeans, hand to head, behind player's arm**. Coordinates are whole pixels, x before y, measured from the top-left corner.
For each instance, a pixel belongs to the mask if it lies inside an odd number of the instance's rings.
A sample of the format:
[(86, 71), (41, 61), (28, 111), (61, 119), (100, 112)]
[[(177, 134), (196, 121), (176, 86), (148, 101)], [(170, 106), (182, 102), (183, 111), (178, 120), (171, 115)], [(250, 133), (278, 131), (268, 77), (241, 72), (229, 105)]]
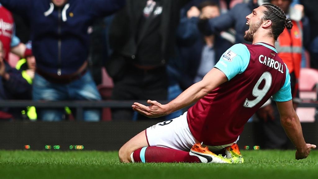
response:
[[(171, 59), (167, 67), (168, 100), (176, 98), (183, 90), (201, 80), (207, 70), (211, 70), (221, 55), (233, 45), (233, 42), (223, 38), (231, 36), (234, 39), (234, 35), (228, 32), (222, 32), (221, 35), (204, 36), (198, 29), (197, 22), (201, 13), (210, 14), (210, 18), (220, 15), (220, 9), (215, 0), (191, 1), (188, 5), (193, 6), (188, 8), (185, 6), (181, 10), (180, 24), (176, 32), (179, 55), (177, 58)], [(183, 110), (167, 115), (166, 119), (182, 115)]]

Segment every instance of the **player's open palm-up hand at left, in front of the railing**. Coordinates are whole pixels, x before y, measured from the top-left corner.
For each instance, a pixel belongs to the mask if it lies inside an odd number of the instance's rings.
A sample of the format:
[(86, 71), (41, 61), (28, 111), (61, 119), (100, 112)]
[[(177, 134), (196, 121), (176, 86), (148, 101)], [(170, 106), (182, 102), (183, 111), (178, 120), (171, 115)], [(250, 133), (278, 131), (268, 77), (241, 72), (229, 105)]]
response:
[(168, 114), (167, 110), (165, 109), (165, 105), (162, 105), (157, 101), (151, 100), (148, 100), (147, 103), (150, 105), (145, 106), (140, 103), (134, 103), (131, 107), (134, 111), (137, 111), (140, 114), (147, 116), (149, 118), (158, 118)]

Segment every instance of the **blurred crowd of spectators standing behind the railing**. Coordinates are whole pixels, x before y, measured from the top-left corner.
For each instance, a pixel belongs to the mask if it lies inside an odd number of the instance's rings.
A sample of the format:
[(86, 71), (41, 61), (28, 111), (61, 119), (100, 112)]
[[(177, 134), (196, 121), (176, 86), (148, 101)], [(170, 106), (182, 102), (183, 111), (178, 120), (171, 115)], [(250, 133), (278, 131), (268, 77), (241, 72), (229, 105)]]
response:
[[(243, 39), (246, 16), (263, 3), (293, 22), (275, 47), (289, 68), (295, 108), (301, 68), (318, 68), (318, 1), (311, 0), (0, 0), (0, 100), (172, 100)], [(111, 93), (110, 93), (111, 91)], [(278, 129), (275, 104), (256, 114), (269, 136)], [(60, 121), (74, 110), (2, 108), (3, 120)], [(175, 118), (176, 111), (163, 120)], [(129, 108), (111, 119), (144, 120)], [(85, 109), (84, 120), (107, 120)], [(277, 124), (278, 123), (278, 124)], [(281, 128), (281, 127), (280, 127)], [(273, 132), (274, 131), (274, 132)], [(275, 141), (285, 142), (279, 139)], [(287, 138), (286, 138), (287, 140)], [(281, 144), (277, 144), (281, 145)]]

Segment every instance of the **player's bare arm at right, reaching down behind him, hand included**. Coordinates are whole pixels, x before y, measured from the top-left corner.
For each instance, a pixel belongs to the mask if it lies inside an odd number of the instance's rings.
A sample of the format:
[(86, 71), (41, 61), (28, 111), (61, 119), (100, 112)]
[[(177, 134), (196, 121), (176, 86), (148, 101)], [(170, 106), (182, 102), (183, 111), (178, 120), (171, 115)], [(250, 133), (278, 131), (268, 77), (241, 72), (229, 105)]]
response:
[(292, 100), (276, 102), (276, 104), (280, 112), (280, 123), (287, 136), (296, 147), (295, 158), (297, 160), (307, 158), (310, 150), (316, 148), (316, 145), (306, 144), (302, 135), (301, 124), (294, 110)]

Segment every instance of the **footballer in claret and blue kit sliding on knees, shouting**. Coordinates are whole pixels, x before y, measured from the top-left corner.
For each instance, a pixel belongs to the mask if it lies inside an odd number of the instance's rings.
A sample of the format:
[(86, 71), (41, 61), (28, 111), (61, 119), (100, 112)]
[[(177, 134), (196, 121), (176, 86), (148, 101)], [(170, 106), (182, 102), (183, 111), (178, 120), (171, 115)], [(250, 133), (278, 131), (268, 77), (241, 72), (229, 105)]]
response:
[[(149, 118), (170, 114), (196, 102), (178, 118), (140, 132), (119, 150), (121, 162), (242, 163), (236, 144), (248, 119), (270, 98), (276, 101), (281, 125), (296, 148), (295, 158), (306, 158), (315, 145), (306, 144), (294, 111), (288, 68), (277, 55), (275, 40), (292, 22), (273, 4), (263, 4), (246, 16), (249, 29), (197, 82), (168, 104), (148, 100), (133, 110)], [(217, 155), (225, 150), (226, 156)]]

